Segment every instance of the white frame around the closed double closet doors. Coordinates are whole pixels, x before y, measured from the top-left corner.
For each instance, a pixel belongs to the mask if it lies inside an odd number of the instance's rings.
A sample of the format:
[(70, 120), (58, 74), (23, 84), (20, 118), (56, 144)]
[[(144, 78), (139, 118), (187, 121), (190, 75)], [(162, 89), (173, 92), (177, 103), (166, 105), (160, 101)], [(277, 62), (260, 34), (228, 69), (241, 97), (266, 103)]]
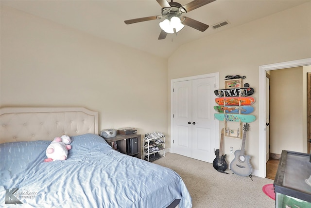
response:
[[(174, 153), (173, 150), (173, 87), (174, 82), (181, 82), (181, 81), (188, 81), (188, 80), (194, 80), (194, 79), (202, 79), (202, 78), (209, 78), (209, 77), (215, 77), (215, 88), (219, 88), (219, 72), (205, 74), (205, 75), (197, 75), (197, 76), (188, 76), (188, 77), (182, 77), (182, 78), (176, 78), (171, 79), (171, 149), (170, 152)], [(215, 95), (216, 96), (216, 95)], [(213, 110), (213, 109), (211, 109)], [(215, 144), (219, 144), (219, 122), (215, 122)]]

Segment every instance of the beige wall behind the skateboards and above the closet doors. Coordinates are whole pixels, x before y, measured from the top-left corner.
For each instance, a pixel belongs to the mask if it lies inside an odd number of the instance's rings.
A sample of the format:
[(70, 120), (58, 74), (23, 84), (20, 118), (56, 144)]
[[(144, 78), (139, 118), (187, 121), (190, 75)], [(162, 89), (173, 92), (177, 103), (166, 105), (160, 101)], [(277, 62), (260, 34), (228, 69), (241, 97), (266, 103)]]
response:
[[(246, 76), (255, 89), (255, 122), (247, 132), (246, 152), (253, 169), (259, 170), (259, 66), (311, 57), (311, 3), (305, 3), (239, 27), (181, 46), (169, 59), (168, 82), (185, 76), (220, 72), (220, 87), (226, 75)], [(183, 60), (183, 61), (180, 61)], [(168, 91), (171, 97), (170, 91)], [(169, 100), (170, 102), (170, 100)], [(170, 105), (169, 105), (170, 106)], [(169, 114), (171, 111), (169, 109)], [(169, 120), (169, 129), (170, 129)], [(219, 125), (223, 128), (223, 125)], [(220, 131), (219, 130), (219, 131)], [(264, 139), (264, 138), (260, 138)], [(234, 155), (229, 147), (240, 149), (241, 140), (224, 141), (227, 161)]]

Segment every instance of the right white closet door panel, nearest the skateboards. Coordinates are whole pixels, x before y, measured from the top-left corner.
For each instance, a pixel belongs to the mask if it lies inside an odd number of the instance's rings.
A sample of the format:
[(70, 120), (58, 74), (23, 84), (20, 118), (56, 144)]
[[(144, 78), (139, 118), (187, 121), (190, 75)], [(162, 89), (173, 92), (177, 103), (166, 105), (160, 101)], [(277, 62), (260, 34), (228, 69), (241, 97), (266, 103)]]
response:
[(215, 159), (215, 77), (192, 81), (192, 158)]

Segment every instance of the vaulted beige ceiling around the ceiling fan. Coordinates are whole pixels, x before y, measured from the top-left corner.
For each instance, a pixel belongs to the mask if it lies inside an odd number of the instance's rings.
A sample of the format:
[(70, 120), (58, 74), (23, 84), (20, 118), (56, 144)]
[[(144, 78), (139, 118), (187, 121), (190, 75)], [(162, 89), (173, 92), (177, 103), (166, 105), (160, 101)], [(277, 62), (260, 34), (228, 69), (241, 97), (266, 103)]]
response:
[[(170, 1), (170, 0), (169, 0)], [(181, 5), (191, 0), (174, 0)], [(168, 58), (180, 45), (289, 9), (310, 0), (216, 0), (183, 15), (209, 25), (205, 32), (185, 26), (158, 40), (156, 19), (126, 25), (124, 20), (161, 15), (156, 0), (1, 0), (6, 5), (53, 22)], [(214, 29), (212, 26), (229, 24)], [(290, 27), (290, 25), (289, 25)]]

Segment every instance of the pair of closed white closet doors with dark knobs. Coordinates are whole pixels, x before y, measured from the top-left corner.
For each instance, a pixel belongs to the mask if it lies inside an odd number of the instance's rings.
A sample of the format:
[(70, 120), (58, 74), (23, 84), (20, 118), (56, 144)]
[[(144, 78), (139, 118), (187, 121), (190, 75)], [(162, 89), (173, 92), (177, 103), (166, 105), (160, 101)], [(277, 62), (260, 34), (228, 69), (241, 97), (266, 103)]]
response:
[(215, 77), (174, 83), (173, 152), (212, 162), (215, 158)]

